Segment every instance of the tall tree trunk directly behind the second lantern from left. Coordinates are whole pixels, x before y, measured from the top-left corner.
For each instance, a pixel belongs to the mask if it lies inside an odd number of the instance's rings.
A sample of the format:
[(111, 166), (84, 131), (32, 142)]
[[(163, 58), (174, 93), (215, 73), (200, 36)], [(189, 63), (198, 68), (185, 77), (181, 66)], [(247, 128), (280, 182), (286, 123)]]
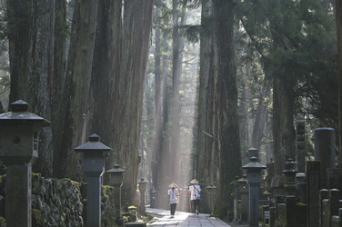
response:
[[(86, 134), (98, 134), (101, 143), (116, 151), (116, 108), (120, 75), (121, 0), (101, 0), (97, 11), (96, 40), (89, 90), (90, 119)], [(108, 153), (106, 170), (116, 164), (116, 153)], [(106, 175), (104, 182), (107, 183)]]

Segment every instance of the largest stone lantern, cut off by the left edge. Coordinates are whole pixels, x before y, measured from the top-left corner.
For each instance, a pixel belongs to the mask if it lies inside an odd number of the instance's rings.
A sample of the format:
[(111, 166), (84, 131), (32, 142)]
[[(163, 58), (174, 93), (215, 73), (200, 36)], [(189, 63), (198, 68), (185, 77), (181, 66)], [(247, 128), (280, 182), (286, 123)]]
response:
[(29, 113), (22, 100), (12, 103), (11, 109), (0, 114), (0, 158), (7, 174), (6, 222), (7, 226), (31, 226), (32, 164), (38, 158), (38, 130), (50, 123)]

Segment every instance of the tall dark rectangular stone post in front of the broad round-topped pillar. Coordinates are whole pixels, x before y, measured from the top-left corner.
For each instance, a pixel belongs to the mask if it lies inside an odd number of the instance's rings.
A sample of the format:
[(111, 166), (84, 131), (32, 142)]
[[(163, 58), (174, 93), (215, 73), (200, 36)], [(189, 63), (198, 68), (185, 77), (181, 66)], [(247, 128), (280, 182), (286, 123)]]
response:
[(307, 161), (307, 226), (319, 226), (320, 161)]

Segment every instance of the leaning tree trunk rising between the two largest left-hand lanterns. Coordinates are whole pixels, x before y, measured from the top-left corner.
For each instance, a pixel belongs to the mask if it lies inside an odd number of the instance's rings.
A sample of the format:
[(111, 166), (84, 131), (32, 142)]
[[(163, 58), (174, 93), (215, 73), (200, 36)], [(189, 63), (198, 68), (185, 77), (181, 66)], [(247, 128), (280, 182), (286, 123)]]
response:
[(88, 93), (90, 86), (93, 53), (96, 38), (96, 15), (98, 1), (75, 1), (70, 51), (65, 74), (63, 145), (54, 153), (55, 177), (69, 177), (81, 180), (83, 170), (74, 151), (76, 146), (85, 143), (82, 140), (85, 116), (90, 104)]

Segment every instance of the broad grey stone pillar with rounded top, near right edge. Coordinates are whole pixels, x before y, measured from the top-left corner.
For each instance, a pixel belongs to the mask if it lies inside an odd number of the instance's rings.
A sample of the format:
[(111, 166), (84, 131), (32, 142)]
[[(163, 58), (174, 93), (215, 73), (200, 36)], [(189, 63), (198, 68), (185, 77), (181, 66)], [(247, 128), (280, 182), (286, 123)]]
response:
[(321, 161), (321, 187), (327, 188), (327, 169), (336, 167), (335, 130), (333, 128), (317, 128), (314, 137), (315, 160)]

